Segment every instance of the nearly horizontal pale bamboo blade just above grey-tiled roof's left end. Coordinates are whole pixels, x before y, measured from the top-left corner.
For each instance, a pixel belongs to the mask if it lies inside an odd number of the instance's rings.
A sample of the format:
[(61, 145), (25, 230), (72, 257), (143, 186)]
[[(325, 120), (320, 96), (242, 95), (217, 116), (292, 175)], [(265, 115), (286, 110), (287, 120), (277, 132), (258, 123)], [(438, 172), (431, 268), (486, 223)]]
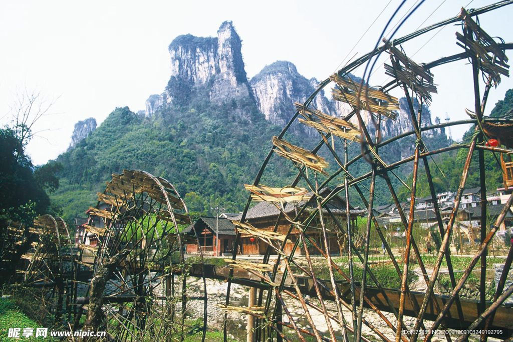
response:
[(259, 184), (258, 186), (244, 184), (246, 190), (251, 191), (251, 199), (254, 202), (300, 202), (309, 200), (311, 196), (306, 196), (308, 190), (300, 187), (269, 187)]

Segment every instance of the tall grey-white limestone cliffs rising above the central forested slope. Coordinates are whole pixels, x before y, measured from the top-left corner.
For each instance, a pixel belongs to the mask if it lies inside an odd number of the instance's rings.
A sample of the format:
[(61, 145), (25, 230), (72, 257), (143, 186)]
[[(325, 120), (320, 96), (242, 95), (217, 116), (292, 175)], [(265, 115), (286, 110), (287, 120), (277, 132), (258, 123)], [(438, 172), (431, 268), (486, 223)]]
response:
[[(146, 116), (173, 103), (187, 105), (195, 90), (208, 94), (212, 103), (221, 104), (231, 100), (247, 99), (245, 103), (256, 105), (269, 122), (284, 127), (295, 113), (294, 102), (303, 103), (318, 87), (319, 81), (302, 76), (288, 61), (277, 61), (266, 66), (248, 82), (241, 52), (241, 38), (231, 22), (224, 22), (217, 37), (195, 37), (190, 34), (176, 37), (169, 45), (171, 77), (162, 95), (151, 95), (146, 101)], [(353, 76), (351, 76), (353, 77)], [(357, 77), (354, 80), (359, 82)], [(329, 88), (326, 88), (330, 92)], [(328, 95), (329, 97), (330, 94)], [(343, 117), (351, 112), (347, 103), (328, 100), (324, 91), (319, 92), (311, 105), (333, 116)], [(416, 109), (418, 103), (415, 104)], [(411, 119), (405, 99), (401, 99), (397, 120), (382, 122), (383, 139), (412, 131)], [(245, 117), (244, 110), (232, 109), (234, 115)], [(372, 132), (372, 119), (362, 113)], [(247, 118), (247, 117), (246, 117)], [(249, 119), (251, 121), (251, 119)], [(356, 117), (352, 120), (356, 122)], [(431, 124), (431, 114), (423, 110), (422, 126)], [(294, 123), (292, 131), (297, 134), (315, 135), (315, 131)], [(443, 129), (427, 132), (426, 137), (440, 136), (446, 141)], [(409, 153), (404, 148), (404, 155)]]

